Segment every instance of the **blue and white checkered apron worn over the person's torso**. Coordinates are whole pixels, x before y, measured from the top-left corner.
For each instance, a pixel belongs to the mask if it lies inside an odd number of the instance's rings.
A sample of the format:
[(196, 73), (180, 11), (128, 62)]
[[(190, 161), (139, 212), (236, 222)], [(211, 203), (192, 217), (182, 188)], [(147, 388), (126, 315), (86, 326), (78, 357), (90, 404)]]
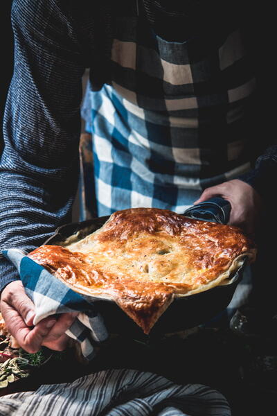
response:
[(249, 171), (254, 91), (238, 28), (168, 42), (143, 10), (118, 16), (111, 85), (89, 90), (82, 112), (93, 133), (98, 214), (182, 213), (202, 189)]

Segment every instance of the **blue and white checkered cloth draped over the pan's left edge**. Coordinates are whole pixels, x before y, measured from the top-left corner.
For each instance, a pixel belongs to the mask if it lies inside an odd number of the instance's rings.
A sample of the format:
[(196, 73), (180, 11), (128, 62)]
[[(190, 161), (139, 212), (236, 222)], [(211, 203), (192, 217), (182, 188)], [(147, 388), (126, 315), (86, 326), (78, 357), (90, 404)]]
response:
[[(107, 339), (101, 316), (88, 298), (79, 295), (44, 267), (16, 248), (4, 250), (3, 255), (17, 268), (27, 295), (35, 304), (34, 324), (49, 315), (80, 311), (67, 335), (80, 343), (84, 358), (95, 355), (94, 343)], [(91, 298), (92, 299), (92, 298)]]

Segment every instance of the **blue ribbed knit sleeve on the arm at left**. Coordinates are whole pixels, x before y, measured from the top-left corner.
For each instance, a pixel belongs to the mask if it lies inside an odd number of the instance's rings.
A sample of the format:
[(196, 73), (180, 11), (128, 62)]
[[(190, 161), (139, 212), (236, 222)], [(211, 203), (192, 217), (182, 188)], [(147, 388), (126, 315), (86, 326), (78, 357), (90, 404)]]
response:
[[(13, 2), (15, 68), (0, 164), (0, 251), (33, 250), (71, 220), (85, 65), (70, 4)], [(1, 257), (0, 290), (18, 278)]]

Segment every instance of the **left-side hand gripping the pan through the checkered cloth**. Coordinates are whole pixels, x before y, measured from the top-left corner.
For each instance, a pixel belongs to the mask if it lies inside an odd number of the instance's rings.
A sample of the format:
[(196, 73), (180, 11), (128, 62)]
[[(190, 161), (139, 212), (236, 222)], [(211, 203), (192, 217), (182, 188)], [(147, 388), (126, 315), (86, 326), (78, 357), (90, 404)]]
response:
[(20, 280), (12, 281), (3, 289), (0, 310), (8, 331), (26, 352), (33, 354), (42, 345), (62, 351), (69, 337), (69, 329), (77, 313), (63, 313), (58, 319), (45, 318), (33, 327), (35, 306), (24, 291)]

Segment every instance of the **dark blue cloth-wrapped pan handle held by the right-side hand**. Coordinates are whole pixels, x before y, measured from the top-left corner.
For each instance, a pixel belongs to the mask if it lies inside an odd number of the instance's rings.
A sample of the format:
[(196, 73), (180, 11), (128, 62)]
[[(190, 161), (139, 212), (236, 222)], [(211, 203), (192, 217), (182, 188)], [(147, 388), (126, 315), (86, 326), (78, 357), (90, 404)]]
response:
[(186, 209), (183, 215), (195, 220), (226, 224), (229, 221), (230, 211), (230, 203), (224, 198), (216, 196)]

